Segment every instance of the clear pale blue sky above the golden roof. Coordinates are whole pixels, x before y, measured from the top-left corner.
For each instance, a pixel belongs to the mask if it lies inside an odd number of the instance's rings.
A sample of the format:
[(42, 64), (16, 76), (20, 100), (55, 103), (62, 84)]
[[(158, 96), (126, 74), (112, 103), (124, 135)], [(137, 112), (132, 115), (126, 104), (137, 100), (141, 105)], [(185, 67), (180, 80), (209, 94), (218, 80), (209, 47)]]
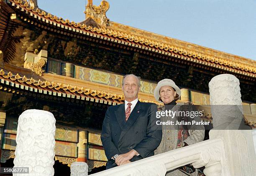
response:
[[(256, 0), (107, 1), (111, 21), (256, 60)], [(38, 0), (41, 9), (74, 22), (85, 19), (86, 4)]]

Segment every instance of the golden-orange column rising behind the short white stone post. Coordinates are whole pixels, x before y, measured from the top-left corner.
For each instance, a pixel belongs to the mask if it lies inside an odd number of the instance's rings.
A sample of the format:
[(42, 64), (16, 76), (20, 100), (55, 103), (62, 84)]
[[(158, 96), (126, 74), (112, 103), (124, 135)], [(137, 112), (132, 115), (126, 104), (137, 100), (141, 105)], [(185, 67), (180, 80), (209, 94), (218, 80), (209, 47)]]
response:
[(87, 162), (87, 132), (83, 130), (79, 130), (79, 142), (78, 146), (78, 162)]

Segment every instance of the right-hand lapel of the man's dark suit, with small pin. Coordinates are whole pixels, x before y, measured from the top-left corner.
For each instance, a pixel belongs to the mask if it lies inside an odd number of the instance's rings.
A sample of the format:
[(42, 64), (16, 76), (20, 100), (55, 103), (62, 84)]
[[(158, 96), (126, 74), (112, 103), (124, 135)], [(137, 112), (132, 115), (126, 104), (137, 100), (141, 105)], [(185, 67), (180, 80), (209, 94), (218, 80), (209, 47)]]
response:
[(124, 124), (124, 128), (123, 128), (123, 131), (120, 134), (119, 141), (123, 138), (125, 133), (131, 128), (131, 126), (138, 119), (140, 114), (141, 114), (141, 102), (138, 101), (136, 106), (134, 107), (133, 111), (131, 112), (128, 120)]

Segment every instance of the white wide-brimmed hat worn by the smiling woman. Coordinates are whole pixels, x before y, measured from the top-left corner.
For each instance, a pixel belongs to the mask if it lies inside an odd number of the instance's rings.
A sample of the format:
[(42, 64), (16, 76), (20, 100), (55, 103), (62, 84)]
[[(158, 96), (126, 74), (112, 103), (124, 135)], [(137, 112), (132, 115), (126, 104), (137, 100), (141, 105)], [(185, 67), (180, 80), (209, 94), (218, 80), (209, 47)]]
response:
[(160, 98), (159, 91), (160, 91), (160, 88), (163, 86), (171, 86), (177, 92), (179, 97), (181, 96), (181, 90), (179, 89), (179, 87), (175, 84), (175, 82), (172, 79), (163, 79), (157, 83), (156, 89), (154, 90), (154, 97), (155, 97), (156, 101), (162, 103), (161, 101), (159, 101), (159, 98)]

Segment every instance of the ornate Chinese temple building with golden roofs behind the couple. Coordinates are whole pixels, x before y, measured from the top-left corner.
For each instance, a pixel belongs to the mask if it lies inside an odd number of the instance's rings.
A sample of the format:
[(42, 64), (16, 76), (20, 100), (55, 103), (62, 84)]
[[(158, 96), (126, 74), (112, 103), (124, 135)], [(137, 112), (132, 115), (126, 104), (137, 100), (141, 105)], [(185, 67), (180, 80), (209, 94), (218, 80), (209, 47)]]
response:
[[(54, 114), (55, 173), (87, 162), (105, 169), (100, 132), (109, 106), (124, 102), (125, 74), (142, 78), (139, 100), (156, 103), (156, 83), (173, 79), (179, 102), (209, 105), (208, 83), (218, 74), (240, 81), (246, 123), (256, 128), (256, 61), (110, 21), (110, 8), (88, 0), (74, 22), (38, 7), (36, 0), (0, 0), (1, 167), (12, 167), (18, 117), (26, 109)], [(202, 117), (212, 122), (210, 110)], [(69, 175), (69, 174), (67, 174)]]

